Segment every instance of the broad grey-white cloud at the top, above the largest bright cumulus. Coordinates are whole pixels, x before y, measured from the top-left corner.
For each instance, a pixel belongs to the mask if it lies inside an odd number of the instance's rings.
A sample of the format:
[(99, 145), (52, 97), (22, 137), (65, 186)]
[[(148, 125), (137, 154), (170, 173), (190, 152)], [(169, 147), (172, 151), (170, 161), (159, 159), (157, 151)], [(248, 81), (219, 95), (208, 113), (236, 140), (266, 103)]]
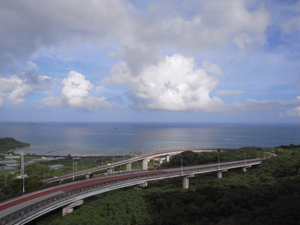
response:
[[(135, 21), (130, 27), (133, 34), (130, 41), (124, 35), (119, 37), (121, 45), (110, 55), (119, 57), (136, 76), (144, 68), (157, 64), (158, 52), (164, 48), (173, 49), (172, 53), (167, 53), (170, 55), (179, 52), (190, 55), (216, 48), (222, 52), (224, 46), (235, 44), (246, 54), (250, 47), (265, 43), (265, 30), (270, 24), (268, 11), (262, 4), (248, 5), (246, 2), (211, 0), (190, 3), (193, 9), (187, 17), (178, 11), (166, 10), (176, 5), (168, 2), (170, 6), (165, 6), (164, 10), (156, 8), (160, 12), (159, 19), (140, 18)], [(208, 60), (203, 66), (206, 72), (215, 76), (223, 74), (220, 67)]]

